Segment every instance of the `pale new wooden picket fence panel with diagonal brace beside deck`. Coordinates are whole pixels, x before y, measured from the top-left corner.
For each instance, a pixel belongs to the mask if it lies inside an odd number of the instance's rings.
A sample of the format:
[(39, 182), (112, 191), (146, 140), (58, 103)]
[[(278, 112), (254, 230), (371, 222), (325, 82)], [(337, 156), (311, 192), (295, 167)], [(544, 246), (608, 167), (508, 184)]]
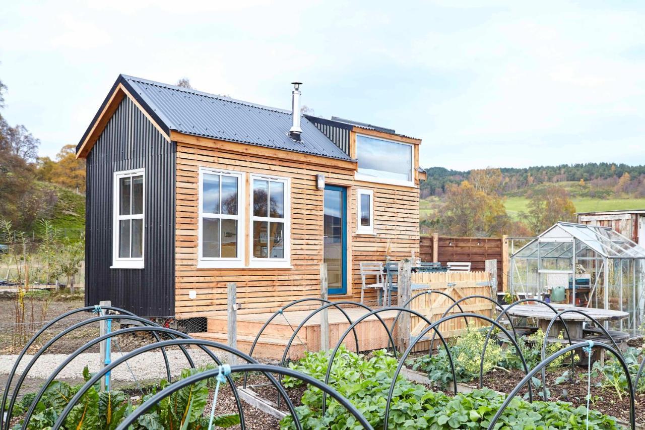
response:
[[(413, 284), (427, 285), (427, 290), (444, 292), (455, 300), (466, 296), (478, 294), (480, 296), (491, 296), (490, 275), (488, 272), (428, 272), (413, 273)], [(415, 288), (412, 296), (419, 294), (425, 289)], [(423, 314), (431, 322), (435, 322), (448, 310), (454, 302), (442, 294), (423, 294), (412, 300), (410, 309)], [(462, 311), (473, 314), (480, 314), (491, 318), (493, 316), (493, 303), (481, 298), (472, 298), (459, 303)], [(448, 314), (461, 312), (459, 307), (454, 306)], [(468, 320), (470, 327), (479, 327), (490, 325), (483, 320), (470, 318)], [(426, 327), (427, 324), (418, 316), (412, 316), (410, 324), (410, 334), (417, 336)], [(449, 322), (442, 323), (439, 327), (441, 334), (445, 338), (458, 336), (466, 329), (466, 322), (463, 318), (455, 318)], [(432, 335), (432, 334), (431, 334)], [(430, 336), (428, 336), (430, 337)]]

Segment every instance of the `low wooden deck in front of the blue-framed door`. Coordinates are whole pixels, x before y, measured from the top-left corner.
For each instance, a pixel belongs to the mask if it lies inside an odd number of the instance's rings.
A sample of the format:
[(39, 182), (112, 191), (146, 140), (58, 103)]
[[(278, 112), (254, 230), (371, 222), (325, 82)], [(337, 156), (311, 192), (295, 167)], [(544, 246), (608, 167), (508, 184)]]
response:
[[(343, 311), (350, 317), (352, 322), (358, 320), (368, 311), (360, 307), (343, 308)], [(263, 334), (253, 350), (254, 358), (276, 358), (283, 356), (284, 349), (293, 335), (293, 331), (305, 318), (313, 312), (313, 309), (285, 311), (277, 315), (273, 321), (264, 329)], [(319, 351), (321, 349), (320, 324), (321, 314), (318, 312), (300, 329), (295, 336), (287, 357), (297, 360), (304, 356), (305, 351)], [(397, 311), (383, 311), (379, 313), (388, 328), (392, 326)], [(264, 323), (271, 318), (271, 313), (238, 314), (237, 315), (237, 347), (244, 353), (250, 351), (255, 336)], [(328, 321), (330, 331), (330, 343), (333, 347), (339, 340), (342, 333), (348, 329), (350, 323), (341, 311), (332, 307), (328, 309)], [(208, 318), (207, 333), (191, 333), (195, 338), (213, 340), (226, 343), (226, 316), (212, 316)], [(377, 316), (370, 315), (356, 327), (361, 351), (385, 348), (388, 346), (388, 334)], [(350, 333), (344, 342), (348, 349), (355, 351), (355, 342)]]

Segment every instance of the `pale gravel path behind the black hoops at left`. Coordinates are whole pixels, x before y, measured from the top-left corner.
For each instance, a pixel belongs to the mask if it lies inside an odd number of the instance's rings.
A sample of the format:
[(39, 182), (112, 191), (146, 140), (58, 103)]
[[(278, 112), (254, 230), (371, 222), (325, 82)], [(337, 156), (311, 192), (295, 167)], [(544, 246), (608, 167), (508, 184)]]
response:
[[(206, 356), (203, 351), (197, 351), (195, 349), (188, 349), (188, 353), (192, 356), (195, 366), (199, 367), (201, 365), (206, 365), (212, 363), (212, 359)], [(168, 354), (168, 362), (170, 362), (170, 371), (173, 376), (177, 376), (181, 373), (182, 369), (190, 367), (186, 357), (180, 350), (171, 350), (166, 351)], [(119, 358), (121, 354), (112, 353), (112, 360)], [(33, 355), (26, 355), (20, 362), (20, 365), (17, 369), (17, 374), (23, 373), (25, 371), (26, 365), (33, 358)], [(43, 354), (40, 356), (35, 363), (34, 367), (30, 369), (28, 373), (29, 378), (47, 378), (54, 369), (60, 365), (66, 358), (67, 354)], [(2, 355), (0, 356), (0, 374), (8, 374), (11, 371), (11, 368), (14, 366), (15, 360), (18, 358), (17, 355)], [(83, 368), (85, 365), (88, 366), (90, 372), (96, 372), (99, 370), (99, 354), (98, 353), (85, 353), (80, 354), (71, 363), (66, 365), (61, 373), (56, 377), (57, 379), (62, 378), (81, 378), (83, 374)], [(143, 353), (127, 362), (130, 365), (130, 369), (134, 372), (135, 376), (141, 380), (155, 379), (155, 378), (165, 378), (166, 377), (166, 367), (163, 362), (163, 356), (159, 351), (151, 351), (149, 353)], [(128, 366), (125, 363), (117, 366), (112, 371), (113, 380), (132, 380), (132, 374), (128, 370)]]

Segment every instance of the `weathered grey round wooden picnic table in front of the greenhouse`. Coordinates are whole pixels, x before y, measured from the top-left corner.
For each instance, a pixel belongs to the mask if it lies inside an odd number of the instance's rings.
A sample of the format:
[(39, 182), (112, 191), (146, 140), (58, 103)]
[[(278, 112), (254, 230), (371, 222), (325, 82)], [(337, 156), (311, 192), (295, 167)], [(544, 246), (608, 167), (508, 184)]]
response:
[[(504, 308), (506, 307), (508, 307), (508, 305), (504, 306)], [(595, 307), (562, 305), (560, 303), (553, 303), (553, 307), (558, 312), (564, 311), (565, 309), (576, 309), (577, 311), (582, 311), (592, 318), (595, 318), (600, 323), (606, 321), (622, 320), (623, 318), (627, 318), (630, 315), (628, 314), (628, 312), (611, 311), (610, 309), (597, 309)], [(506, 313), (511, 316), (537, 318), (539, 327), (544, 332), (546, 332), (549, 323), (553, 319), (553, 316), (555, 316), (555, 313), (550, 309), (550, 307), (543, 305), (542, 303), (537, 303), (535, 305), (516, 305)], [(589, 318), (585, 318), (577, 312), (567, 312), (566, 314), (562, 314), (562, 319), (566, 322), (572, 340), (582, 340), (582, 338), (584, 337), (584, 333), (582, 332), (584, 322), (591, 322)], [(557, 337), (561, 332), (564, 332), (564, 325), (562, 325), (562, 322), (560, 322), (558, 319), (551, 326), (551, 331), (548, 335)], [(564, 334), (564, 336), (566, 336), (566, 334)]]

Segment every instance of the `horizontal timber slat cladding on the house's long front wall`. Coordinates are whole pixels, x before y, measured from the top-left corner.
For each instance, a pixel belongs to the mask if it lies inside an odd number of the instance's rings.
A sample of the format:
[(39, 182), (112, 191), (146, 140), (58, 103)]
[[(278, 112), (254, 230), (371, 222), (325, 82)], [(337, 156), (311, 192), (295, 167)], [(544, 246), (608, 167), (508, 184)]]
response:
[[(241, 153), (208, 145), (208, 141), (177, 143), (175, 314), (179, 318), (224, 314), (228, 282), (237, 283), (241, 314), (275, 312), (293, 300), (320, 296), (323, 191), (316, 189), (319, 173), (326, 184), (348, 189), (348, 294), (330, 299), (360, 299), (360, 261), (384, 261), (388, 250), (392, 259), (409, 257), (413, 251), (418, 254), (418, 188), (359, 183), (353, 179), (354, 170), (344, 167), (346, 162), (333, 159), (311, 163), (289, 152), (268, 157), (255, 150)], [(291, 179), (291, 268), (197, 269), (199, 167), (243, 172), (246, 181), (251, 174)], [(248, 205), (250, 187), (245, 188)], [(373, 190), (375, 234), (355, 234), (357, 189)], [(248, 231), (248, 222), (246, 217), (243, 232)], [(248, 243), (248, 233), (243, 240)], [(194, 299), (189, 298), (191, 290), (197, 292)], [(365, 300), (376, 300), (375, 291), (368, 290)]]

